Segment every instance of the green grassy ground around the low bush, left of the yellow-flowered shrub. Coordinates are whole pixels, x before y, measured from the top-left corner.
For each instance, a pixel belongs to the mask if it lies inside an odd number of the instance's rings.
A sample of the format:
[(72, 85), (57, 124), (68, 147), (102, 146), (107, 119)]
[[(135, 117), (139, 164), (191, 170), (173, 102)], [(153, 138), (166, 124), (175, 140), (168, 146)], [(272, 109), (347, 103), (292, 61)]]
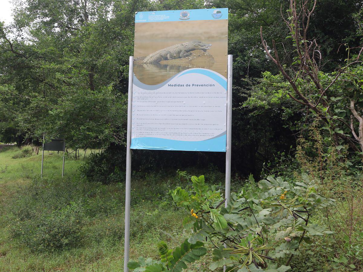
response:
[[(82, 180), (77, 172), (82, 159), (73, 158), (66, 158), (62, 179), (62, 156), (48, 151), (40, 179), (41, 152), (13, 158), (19, 154), (21, 150), (14, 146), (0, 151), (0, 271), (123, 271), (124, 184), (105, 186)], [(174, 247), (188, 236), (181, 225), (187, 211), (173, 206), (168, 195), (178, 182), (176, 176), (133, 179), (137, 186), (132, 186), (131, 195), (131, 259), (156, 257), (158, 241)], [(64, 211), (62, 203), (81, 203), (83, 224), (78, 244), (39, 252), (39, 244), (14, 238), (24, 227), (16, 225), (14, 214), (24, 213), (28, 223), (44, 224), (49, 222), (52, 209)], [(30, 232), (40, 230), (40, 225), (20, 237), (34, 237), (34, 243), (39, 242), (37, 233)], [(189, 271), (207, 270), (210, 258), (204, 256)]]

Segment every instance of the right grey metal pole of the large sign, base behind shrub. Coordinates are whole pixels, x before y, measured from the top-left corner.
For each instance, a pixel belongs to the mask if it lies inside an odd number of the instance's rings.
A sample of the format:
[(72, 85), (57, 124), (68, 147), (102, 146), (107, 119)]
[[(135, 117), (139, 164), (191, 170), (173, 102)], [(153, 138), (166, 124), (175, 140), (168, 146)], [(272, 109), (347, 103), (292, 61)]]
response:
[[(231, 195), (231, 145), (232, 145), (232, 60), (233, 55), (228, 55), (227, 67), (227, 146), (226, 146), (226, 181), (224, 206), (227, 207)], [(227, 247), (227, 244), (224, 244)], [(223, 271), (227, 267), (224, 265)]]

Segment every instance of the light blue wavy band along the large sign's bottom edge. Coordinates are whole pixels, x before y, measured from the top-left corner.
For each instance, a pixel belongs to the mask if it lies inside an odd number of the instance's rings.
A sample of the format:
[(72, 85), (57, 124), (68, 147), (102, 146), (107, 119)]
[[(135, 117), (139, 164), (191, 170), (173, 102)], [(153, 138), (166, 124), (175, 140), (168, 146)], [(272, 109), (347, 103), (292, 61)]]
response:
[(131, 149), (226, 152), (226, 135), (204, 141), (178, 141), (155, 137), (131, 139)]

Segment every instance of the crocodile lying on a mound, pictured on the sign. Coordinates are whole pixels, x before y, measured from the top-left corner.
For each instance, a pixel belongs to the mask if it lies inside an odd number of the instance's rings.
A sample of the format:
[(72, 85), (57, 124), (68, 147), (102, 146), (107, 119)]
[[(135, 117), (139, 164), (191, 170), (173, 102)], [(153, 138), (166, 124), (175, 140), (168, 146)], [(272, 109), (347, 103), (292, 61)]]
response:
[(176, 44), (169, 46), (164, 49), (160, 49), (150, 55), (148, 55), (143, 62), (144, 63), (158, 63), (162, 60), (185, 58), (193, 50), (203, 50), (206, 51), (211, 49), (211, 44), (204, 44), (200, 41), (184, 42), (183, 44)]

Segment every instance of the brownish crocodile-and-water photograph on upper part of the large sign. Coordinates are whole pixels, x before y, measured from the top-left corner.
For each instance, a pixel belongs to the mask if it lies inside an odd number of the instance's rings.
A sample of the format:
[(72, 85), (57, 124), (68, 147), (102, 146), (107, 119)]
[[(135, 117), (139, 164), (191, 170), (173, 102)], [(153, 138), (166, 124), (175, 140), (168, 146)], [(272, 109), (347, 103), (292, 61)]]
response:
[(227, 77), (226, 29), (227, 20), (135, 24), (135, 77), (146, 85), (157, 85), (194, 68)]

